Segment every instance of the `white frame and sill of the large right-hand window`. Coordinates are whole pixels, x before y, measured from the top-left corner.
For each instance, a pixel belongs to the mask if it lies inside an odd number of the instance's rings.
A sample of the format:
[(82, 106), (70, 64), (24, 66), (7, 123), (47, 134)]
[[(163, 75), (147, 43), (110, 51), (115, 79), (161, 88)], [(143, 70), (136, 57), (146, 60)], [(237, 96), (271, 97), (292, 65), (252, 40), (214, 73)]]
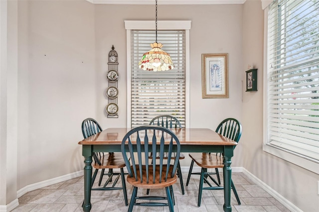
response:
[(311, 161), (303, 155), (292, 154), (286, 149), (268, 143), (268, 11), (264, 9), (264, 73), (263, 73), (263, 151), (276, 157), (284, 159), (290, 163), (298, 165), (316, 174), (319, 174), (319, 164)]

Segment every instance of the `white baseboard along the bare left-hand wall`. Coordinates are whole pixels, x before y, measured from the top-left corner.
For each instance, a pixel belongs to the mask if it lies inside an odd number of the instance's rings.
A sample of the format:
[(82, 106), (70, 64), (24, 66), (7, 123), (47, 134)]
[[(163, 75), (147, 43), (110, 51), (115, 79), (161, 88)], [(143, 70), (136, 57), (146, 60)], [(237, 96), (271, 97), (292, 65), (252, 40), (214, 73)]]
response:
[(73, 172), (73, 173), (63, 175), (60, 177), (56, 177), (56, 178), (44, 180), (44, 181), (41, 181), (38, 183), (30, 184), (30, 185), (27, 185), (27, 186), (23, 187), (22, 189), (18, 190), (16, 192), (16, 195), (19, 198), (22, 195), (26, 194), (27, 192), (30, 192), (30, 191), (33, 191), (36, 189), (40, 189), (40, 188), (43, 188), (46, 186), (51, 186), (53, 184), (60, 183), (60, 182), (66, 181), (66, 180), (71, 180), (73, 178), (80, 177), (80, 176), (83, 176), (83, 171), (77, 171), (77, 172)]

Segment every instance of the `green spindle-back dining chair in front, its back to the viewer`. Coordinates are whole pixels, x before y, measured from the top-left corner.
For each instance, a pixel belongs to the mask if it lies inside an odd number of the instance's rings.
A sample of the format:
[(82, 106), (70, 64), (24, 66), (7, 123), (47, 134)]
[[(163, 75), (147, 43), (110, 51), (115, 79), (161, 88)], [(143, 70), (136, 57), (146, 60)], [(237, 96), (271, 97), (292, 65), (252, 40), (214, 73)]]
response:
[[(171, 158), (174, 153), (179, 158), (180, 144), (176, 135), (168, 128), (154, 125), (138, 126), (126, 133), (121, 150), (128, 169), (127, 182), (133, 186), (132, 198), (128, 212), (133, 206), (168, 206), (174, 211), (174, 194), (172, 185), (177, 182), (178, 160)], [(153, 163), (149, 163), (149, 153), (153, 152)], [(164, 159), (167, 152), (167, 159)], [(159, 153), (160, 159), (156, 160)], [(131, 157), (129, 160), (128, 155)], [(165, 188), (166, 197), (138, 197), (138, 189)], [(139, 200), (142, 200), (139, 201)], [(148, 200), (150, 202), (146, 202)], [(155, 202), (167, 200), (167, 203)], [(153, 202), (151, 202), (153, 201)]]

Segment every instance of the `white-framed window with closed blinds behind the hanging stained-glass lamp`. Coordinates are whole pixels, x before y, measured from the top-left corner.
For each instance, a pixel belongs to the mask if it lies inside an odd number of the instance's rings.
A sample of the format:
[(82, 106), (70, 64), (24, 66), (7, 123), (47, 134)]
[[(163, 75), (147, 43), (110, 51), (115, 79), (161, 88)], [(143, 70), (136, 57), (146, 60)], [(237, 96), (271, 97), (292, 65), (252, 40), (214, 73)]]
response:
[[(178, 22), (181, 25), (178, 25)], [(188, 49), (190, 21), (158, 21), (158, 42), (170, 54), (174, 69), (144, 71), (138, 63), (155, 42), (154, 21), (125, 21), (128, 49), (128, 127), (149, 124), (169, 114), (186, 126), (189, 105)], [(142, 27), (141, 27), (142, 26)], [(174, 28), (176, 27), (176, 28)]]

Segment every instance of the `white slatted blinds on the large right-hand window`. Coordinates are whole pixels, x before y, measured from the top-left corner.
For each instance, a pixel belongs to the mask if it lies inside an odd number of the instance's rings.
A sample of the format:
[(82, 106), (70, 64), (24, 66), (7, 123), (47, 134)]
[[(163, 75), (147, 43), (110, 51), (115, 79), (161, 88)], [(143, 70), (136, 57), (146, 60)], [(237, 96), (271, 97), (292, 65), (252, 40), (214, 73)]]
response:
[(319, 163), (319, 0), (268, 14), (268, 145)]

